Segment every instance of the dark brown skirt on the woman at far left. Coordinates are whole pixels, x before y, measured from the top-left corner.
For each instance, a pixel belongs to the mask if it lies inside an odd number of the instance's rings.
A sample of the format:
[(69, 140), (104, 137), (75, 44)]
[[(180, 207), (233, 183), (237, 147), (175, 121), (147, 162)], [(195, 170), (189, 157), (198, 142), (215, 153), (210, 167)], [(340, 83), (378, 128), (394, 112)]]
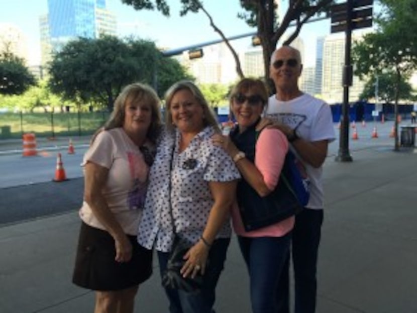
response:
[(140, 246), (136, 236), (128, 236), (132, 259), (115, 261), (113, 237), (106, 231), (82, 223), (72, 282), (80, 287), (112, 291), (137, 286), (152, 275), (152, 250)]

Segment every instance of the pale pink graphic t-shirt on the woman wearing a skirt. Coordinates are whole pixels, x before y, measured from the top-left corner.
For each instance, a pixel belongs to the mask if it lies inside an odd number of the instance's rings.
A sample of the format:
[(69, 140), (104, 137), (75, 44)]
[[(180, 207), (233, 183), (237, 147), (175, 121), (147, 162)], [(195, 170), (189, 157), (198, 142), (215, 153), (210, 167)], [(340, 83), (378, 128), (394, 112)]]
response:
[[(136, 235), (149, 173), (149, 166), (138, 146), (122, 128), (103, 131), (85, 153), (81, 165), (84, 166), (87, 161), (109, 169), (103, 196), (124, 232)], [(79, 215), (84, 223), (105, 230), (87, 202), (83, 201)]]

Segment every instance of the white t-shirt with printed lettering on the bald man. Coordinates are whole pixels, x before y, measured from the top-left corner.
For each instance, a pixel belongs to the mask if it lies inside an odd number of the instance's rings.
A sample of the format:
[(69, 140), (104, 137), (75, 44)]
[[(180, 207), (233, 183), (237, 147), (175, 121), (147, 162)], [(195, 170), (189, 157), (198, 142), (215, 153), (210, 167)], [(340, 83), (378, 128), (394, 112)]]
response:
[[(306, 93), (289, 101), (280, 101), (272, 95), (265, 117), (296, 129), (297, 135), (306, 141), (335, 140), (329, 105)], [(291, 150), (298, 156), (295, 149), (291, 147)], [(310, 178), (310, 199), (306, 207), (323, 208), (323, 167), (314, 168), (306, 163), (304, 166)]]

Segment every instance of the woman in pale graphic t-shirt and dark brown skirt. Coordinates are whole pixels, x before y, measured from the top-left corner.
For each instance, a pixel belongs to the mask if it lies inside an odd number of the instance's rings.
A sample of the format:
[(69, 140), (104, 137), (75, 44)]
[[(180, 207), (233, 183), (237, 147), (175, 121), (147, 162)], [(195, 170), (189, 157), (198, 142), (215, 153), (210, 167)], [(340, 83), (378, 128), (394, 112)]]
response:
[(83, 158), (73, 282), (96, 291), (97, 313), (132, 313), (139, 284), (152, 274), (152, 251), (137, 243), (136, 234), (161, 127), (159, 102), (147, 85), (125, 87)]

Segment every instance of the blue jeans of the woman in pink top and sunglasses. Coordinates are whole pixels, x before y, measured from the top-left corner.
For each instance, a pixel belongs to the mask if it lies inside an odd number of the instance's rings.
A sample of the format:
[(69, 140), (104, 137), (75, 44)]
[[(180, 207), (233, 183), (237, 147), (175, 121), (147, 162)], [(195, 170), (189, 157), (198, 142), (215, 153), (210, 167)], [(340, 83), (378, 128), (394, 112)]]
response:
[(279, 276), (290, 240), (291, 233), (283, 237), (239, 237), (249, 271), (253, 313), (276, 313)]

